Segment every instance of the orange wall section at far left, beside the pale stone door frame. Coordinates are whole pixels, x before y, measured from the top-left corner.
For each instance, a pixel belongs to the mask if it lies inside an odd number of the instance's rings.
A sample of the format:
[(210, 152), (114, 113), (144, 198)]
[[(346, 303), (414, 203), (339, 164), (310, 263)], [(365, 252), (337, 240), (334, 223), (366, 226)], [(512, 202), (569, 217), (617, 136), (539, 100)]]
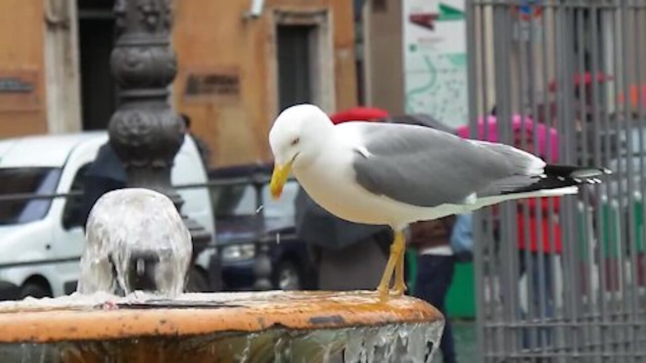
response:
[(47, 132), (43, 1), (0, 1), (0, 78), (33, 83), (28, 94), (0, 92), (0, 137)]

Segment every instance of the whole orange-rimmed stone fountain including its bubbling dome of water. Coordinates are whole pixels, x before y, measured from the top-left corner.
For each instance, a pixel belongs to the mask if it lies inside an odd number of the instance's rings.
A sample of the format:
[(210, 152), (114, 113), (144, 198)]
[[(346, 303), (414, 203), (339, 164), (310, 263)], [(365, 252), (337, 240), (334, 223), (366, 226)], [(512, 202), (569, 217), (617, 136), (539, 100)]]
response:
[(149, 189), (102, 196), (79, 291), (0, 304), (0, 362), (428, 362), (443, 318), (409, 297), (182, 293), (191, 235)]

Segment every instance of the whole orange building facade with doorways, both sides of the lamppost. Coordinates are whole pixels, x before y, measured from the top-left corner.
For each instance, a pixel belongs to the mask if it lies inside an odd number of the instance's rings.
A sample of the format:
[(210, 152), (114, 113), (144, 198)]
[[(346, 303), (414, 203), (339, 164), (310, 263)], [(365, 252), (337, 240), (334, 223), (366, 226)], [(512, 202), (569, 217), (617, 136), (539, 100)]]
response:
[[(0, 2), (0, 138), (105, 129), (118, 105), (113, 6)], [(171, 102), (191, 117), (213, 165), (269, 161), (267, 133), (289, 105), (333, 112), (357, 103), (346, 0), (175, 0), (172, 43)]]

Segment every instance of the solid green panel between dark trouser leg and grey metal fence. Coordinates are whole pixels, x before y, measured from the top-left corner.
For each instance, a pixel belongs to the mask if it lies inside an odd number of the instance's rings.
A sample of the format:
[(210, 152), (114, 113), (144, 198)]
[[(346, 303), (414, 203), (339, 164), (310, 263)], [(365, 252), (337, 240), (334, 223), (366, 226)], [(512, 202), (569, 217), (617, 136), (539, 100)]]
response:
[(475, 282), (472, 262), (455, 264), (453, 282), (444, 304), (450, 318), (475, 318)]

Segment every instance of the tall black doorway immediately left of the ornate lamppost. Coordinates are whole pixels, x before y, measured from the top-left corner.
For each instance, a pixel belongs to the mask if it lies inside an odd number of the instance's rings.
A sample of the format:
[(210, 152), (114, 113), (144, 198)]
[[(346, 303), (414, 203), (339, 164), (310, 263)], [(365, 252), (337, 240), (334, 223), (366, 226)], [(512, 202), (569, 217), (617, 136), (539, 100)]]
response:
[(105, 129), (117, 106), (110, 74), (114, 0), (78, 0), (83, 130)]

